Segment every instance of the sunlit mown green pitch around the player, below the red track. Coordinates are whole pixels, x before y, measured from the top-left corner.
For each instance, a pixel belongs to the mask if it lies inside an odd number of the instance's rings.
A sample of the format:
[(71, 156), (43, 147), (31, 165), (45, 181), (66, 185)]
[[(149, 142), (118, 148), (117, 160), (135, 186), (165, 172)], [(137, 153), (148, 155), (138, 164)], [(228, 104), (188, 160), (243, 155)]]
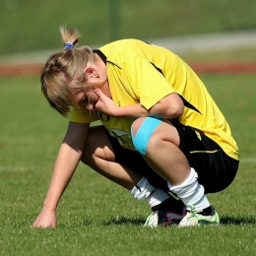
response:
[(58, 227), (34, 229), (67, 120), (38, 78), (0, 79), (0, 255), (256, 255), (255, 75), (202, 75), (239, 146), (239, 172), (209, 198), (222, 225), (145, 228), (149, 207), (79, 165), (58, 208)]

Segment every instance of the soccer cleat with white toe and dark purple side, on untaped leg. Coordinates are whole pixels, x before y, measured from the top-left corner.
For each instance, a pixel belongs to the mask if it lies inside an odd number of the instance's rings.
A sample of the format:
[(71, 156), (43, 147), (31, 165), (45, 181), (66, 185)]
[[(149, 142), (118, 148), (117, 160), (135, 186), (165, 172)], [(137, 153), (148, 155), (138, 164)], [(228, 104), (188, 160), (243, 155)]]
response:
[(185, 208), (182, 214), (176, 214), (168, 211), (156, 211), (147, 218), (144, 225), (157, 227), (158, 225), (168, 226), (172, 224), (179, 224), (179, 222), (184, 218), (185, 214)]

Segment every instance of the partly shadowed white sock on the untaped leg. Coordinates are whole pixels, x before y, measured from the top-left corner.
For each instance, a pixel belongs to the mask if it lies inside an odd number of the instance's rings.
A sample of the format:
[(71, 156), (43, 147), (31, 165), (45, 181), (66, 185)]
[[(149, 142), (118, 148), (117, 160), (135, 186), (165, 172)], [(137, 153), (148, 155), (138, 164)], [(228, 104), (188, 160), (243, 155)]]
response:
[(151, 207), (160, 205), (160, 203), (169, 198), (167, 193), (152, 186), (146, 177), (142, 177), (130, 192), (135, 199), (146, 201)]

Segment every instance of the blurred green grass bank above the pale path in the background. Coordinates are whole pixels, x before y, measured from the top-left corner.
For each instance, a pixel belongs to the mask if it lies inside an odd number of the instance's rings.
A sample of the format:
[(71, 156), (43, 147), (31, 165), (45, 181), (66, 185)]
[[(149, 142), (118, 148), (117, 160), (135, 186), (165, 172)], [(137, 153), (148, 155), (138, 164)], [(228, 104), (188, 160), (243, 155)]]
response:
[(256, 27), (254, 0), (3, 0), (0, 54), (60, 48), (59, 27), (78, 28), (83, 44)]

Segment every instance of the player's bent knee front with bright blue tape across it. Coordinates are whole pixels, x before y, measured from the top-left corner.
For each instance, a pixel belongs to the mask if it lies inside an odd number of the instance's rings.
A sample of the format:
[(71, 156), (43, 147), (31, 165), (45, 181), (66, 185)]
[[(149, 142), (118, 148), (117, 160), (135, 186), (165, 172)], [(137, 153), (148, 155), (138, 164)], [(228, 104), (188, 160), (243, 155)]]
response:
[(147, 147), (161, 120), (153, 117), (141, 117), (134, 121), (131, 127), (132, 142), (134, 148), (143, 156), (147, 153)]

